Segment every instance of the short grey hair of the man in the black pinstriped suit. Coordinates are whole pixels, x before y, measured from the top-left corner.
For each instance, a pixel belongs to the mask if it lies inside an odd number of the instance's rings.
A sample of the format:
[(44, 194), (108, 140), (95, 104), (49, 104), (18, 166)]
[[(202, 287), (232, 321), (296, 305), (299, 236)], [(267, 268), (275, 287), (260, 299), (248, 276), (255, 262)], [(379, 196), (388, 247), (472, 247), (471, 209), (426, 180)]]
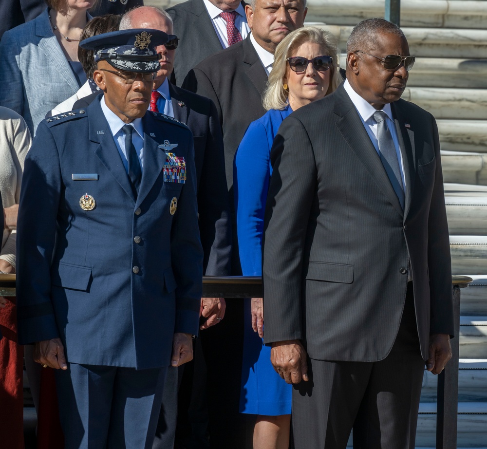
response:
[(405, 37), (402, 30), (392, 22), (385, 19), (365, 19), (359, 22), (347, 41), (347, 55), (362, 50), (368, 52), (376, 45), (376, 37), (380, 33), (395, 34), (399, 37)]

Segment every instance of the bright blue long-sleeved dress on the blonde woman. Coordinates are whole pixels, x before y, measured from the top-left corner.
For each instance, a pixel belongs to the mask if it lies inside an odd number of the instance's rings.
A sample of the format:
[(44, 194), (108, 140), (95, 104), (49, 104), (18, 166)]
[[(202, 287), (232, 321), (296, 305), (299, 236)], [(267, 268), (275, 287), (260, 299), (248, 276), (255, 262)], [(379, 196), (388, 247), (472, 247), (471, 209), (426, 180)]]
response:
[[(282, 121), (293, 112), (271, 110), (252, 122), (235, 155), (233, 182), (240, 262), (244, 276), (262, 276), (265, 200), (272, 173), (270, 150)], [(270, 347), (252, 329), (250, 299), (245, 302), (244, 357), (240, 412), (259, 415), (291, 413), (292, 387), (274, 371)], [(265, 332), (265, 317), (264, 317)]]

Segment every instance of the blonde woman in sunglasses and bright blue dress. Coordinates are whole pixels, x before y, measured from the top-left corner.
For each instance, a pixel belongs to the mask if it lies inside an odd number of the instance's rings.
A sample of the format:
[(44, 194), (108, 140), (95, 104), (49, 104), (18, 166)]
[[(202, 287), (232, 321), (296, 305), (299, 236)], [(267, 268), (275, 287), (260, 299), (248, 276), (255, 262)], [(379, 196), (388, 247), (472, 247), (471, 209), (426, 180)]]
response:
[[(326, 31), (303, 27), (285, 37), (276, 49), (262, 101), (267, 112), (250, 124), (235, 156), (235, 207), (244, 276), (262, 274), (262, 227), (272, 173), (272, 142), (291, 112), (331, 94), (342, 81), (335, 42)], [(274, 371), (270, 347), (262, 344), (262, 298), (247, 303), (244, 335), (240, 411), (257, 415), (254, 449), (287, 449), (292, 387)]]

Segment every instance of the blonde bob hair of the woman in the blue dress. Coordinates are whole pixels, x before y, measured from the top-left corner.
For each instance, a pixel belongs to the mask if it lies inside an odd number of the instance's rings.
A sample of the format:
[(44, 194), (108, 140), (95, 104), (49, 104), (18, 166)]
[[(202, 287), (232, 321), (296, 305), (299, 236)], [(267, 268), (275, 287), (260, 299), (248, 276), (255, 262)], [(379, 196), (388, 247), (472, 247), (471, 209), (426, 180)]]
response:
[[(337, 39), (328, 31), (320, 30), (314, 26), (305, 26), (289, 33), (276, 48), (272, 72), (267, 80), (267, 87), (262, 99), (266, 111), (270, 109), (283, 110), (287, 106), (288, 91), (284, 90), (284, 76), (287, 69), (287, 58), (304, 43), (315, 43), (323, 48), (323, 55), (331, 56), (333, 62), (330, 70), (330, 86), (326, 95), (331, 94), (342, 82), (338, 70)], [(300, 55), (297, 55), (300, 56)]]

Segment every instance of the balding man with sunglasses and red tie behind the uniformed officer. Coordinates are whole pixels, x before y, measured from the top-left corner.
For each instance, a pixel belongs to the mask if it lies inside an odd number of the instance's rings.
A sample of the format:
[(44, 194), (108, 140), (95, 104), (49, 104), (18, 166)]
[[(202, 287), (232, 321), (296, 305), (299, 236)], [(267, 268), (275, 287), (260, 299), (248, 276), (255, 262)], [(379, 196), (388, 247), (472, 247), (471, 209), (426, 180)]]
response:
[[(196, 165), (196, 185), (198, 195), (198, 218), (200, 237), (203, 245), (203, 273), (206, 276), (228, 276), (231, 258), (231, 228), (228, 210), (228, 194), (225, 179), (225, 161), (223, 139), (218, 115), (213, 102), (201, 95), (193, 94), (174, 86), (169, 77), (174, 68), (178, 37), (173, 35), (172, 19), (159, 8), (142, 6), (125, 14), (120, 29), (151, 28), (164, 31), (169, 40), (156, 47), (160, 55), (160, 69), (156, 74), (150, 101), (150, 110), (163, 112), (185, 123), (193, 133)], [(184, 39), (184, 37), (183, 37)], [(179, 50), (178, 50), (179, 52)], [(184, 59), (186, 55), (179, 54)], [(225, 318), (225, 299), (202, 298), (200, 329), (205, 330), (219, 324)], [(201, 332), (194, 341), (194, 379), (185, 376), (182, 388), (185, 397), (191, 397), (192, 413), (206, 415), (206, 363), (205, 353), (211, 353), (218, 341), (206, 338), (207, 331)], [(191, 367), (192, 368), (192, 367)], [(181, 381), (183, 367), (169, 367), (164, 385), (164, 398), (153, 449), (166, 449), (174, 446), (177, 403), (178, 372)], [(189, 377), (189, 382), (187, 382)], [(191, 382), (192, 380), (192, 382)], [(211, 403), (211, 399), (210, 399)], [(187, 408), (181, 409), (183, 417), (188, 415)], [(207, 438), (207, 419), (198, 416), (199, 422), (191, 422), (192, 437), (200, 447)], [(204, 446), (203, 446), (204, 447)]]

